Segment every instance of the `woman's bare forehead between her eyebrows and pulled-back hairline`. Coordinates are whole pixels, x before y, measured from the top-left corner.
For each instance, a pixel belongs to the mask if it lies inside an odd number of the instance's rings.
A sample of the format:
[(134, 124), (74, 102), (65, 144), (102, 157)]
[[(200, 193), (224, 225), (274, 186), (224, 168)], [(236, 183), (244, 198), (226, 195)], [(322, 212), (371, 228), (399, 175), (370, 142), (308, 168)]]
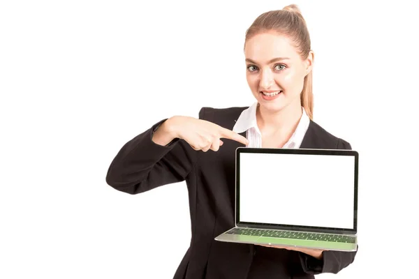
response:
[(244, 55), (246, 59), (258, 63), (267, 63), (278, 57), (300, 58), (297, 49), (287, 36), (273, 32), (259, 33), (247, 40)]

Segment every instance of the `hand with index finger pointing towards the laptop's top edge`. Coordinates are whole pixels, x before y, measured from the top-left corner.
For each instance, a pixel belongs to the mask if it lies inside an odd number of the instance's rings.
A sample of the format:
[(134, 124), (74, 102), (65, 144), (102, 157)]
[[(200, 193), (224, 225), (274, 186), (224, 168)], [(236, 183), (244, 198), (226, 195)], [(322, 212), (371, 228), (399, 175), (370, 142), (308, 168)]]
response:
[(218, 151), (223, 145), (221, 138), (249, 144), (246, 137), (210, 121), (189, 116), (172, 116), (161, 124), (153, 135), (156, 144), (166, 145), (175, 138), (185, 140), (196, 151)]

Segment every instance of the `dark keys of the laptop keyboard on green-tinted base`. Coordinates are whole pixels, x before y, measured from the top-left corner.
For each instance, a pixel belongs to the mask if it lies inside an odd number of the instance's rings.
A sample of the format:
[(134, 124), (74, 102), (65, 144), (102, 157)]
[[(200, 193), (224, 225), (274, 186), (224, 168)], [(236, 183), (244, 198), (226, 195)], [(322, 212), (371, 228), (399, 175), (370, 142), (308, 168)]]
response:
[(228, 234), (242, 234), (248, 236), (269, 236), (277, 237), (280, 239), (306, 239), (315, 241), (332, 241), (343, 243), (355, 243), (355, 237), (342, 236), (339, 234), (316, 234), (315, 232), (289, 232), (279, 231), (276, 229), (247, 229), (247, 228), (234, 228)]

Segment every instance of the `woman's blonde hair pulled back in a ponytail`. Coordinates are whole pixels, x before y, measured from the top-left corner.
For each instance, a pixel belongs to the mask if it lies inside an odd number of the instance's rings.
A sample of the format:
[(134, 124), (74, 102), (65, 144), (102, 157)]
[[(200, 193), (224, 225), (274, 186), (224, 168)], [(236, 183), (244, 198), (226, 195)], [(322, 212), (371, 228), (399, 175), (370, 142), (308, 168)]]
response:
[[(311, 50), (311, 40), (307, 24), (297, 5), (288, 5), (282, 10), (271, 10), (259, 15), (246, 31), (246, 41), (261, 32), (275, 31), (288, 36), (293, 41), (301, 58), (307, 59)], [(304, 77), (301, 92), (301, 105), (310, 119), (313, 119), (313, 74), (312, 70)]]

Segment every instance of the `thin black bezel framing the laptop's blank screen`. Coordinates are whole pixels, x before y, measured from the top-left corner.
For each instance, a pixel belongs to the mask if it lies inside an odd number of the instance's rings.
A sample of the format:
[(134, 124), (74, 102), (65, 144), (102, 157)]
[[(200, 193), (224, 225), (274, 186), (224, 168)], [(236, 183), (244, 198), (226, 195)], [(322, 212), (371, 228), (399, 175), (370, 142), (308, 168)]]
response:
[[(354, 199), (353, 199), (353, 229), (312, 227), (302, 225), (249, 223), (240, 221), (240, 154), (241, 153), (280, 153), (280, 154), (303, 154), (303, 155), (332, 155), (354, 157)], [(235, 224), (237, 227), (265, 228), (265, 229), (291, 229), (304, 232), (325, 232), (332, 234), (356, 234), (358, 229), (358, 158), (357, 151), (350, 149), (267, 149), (238, 147), (236, 149), (235, 164)]]

